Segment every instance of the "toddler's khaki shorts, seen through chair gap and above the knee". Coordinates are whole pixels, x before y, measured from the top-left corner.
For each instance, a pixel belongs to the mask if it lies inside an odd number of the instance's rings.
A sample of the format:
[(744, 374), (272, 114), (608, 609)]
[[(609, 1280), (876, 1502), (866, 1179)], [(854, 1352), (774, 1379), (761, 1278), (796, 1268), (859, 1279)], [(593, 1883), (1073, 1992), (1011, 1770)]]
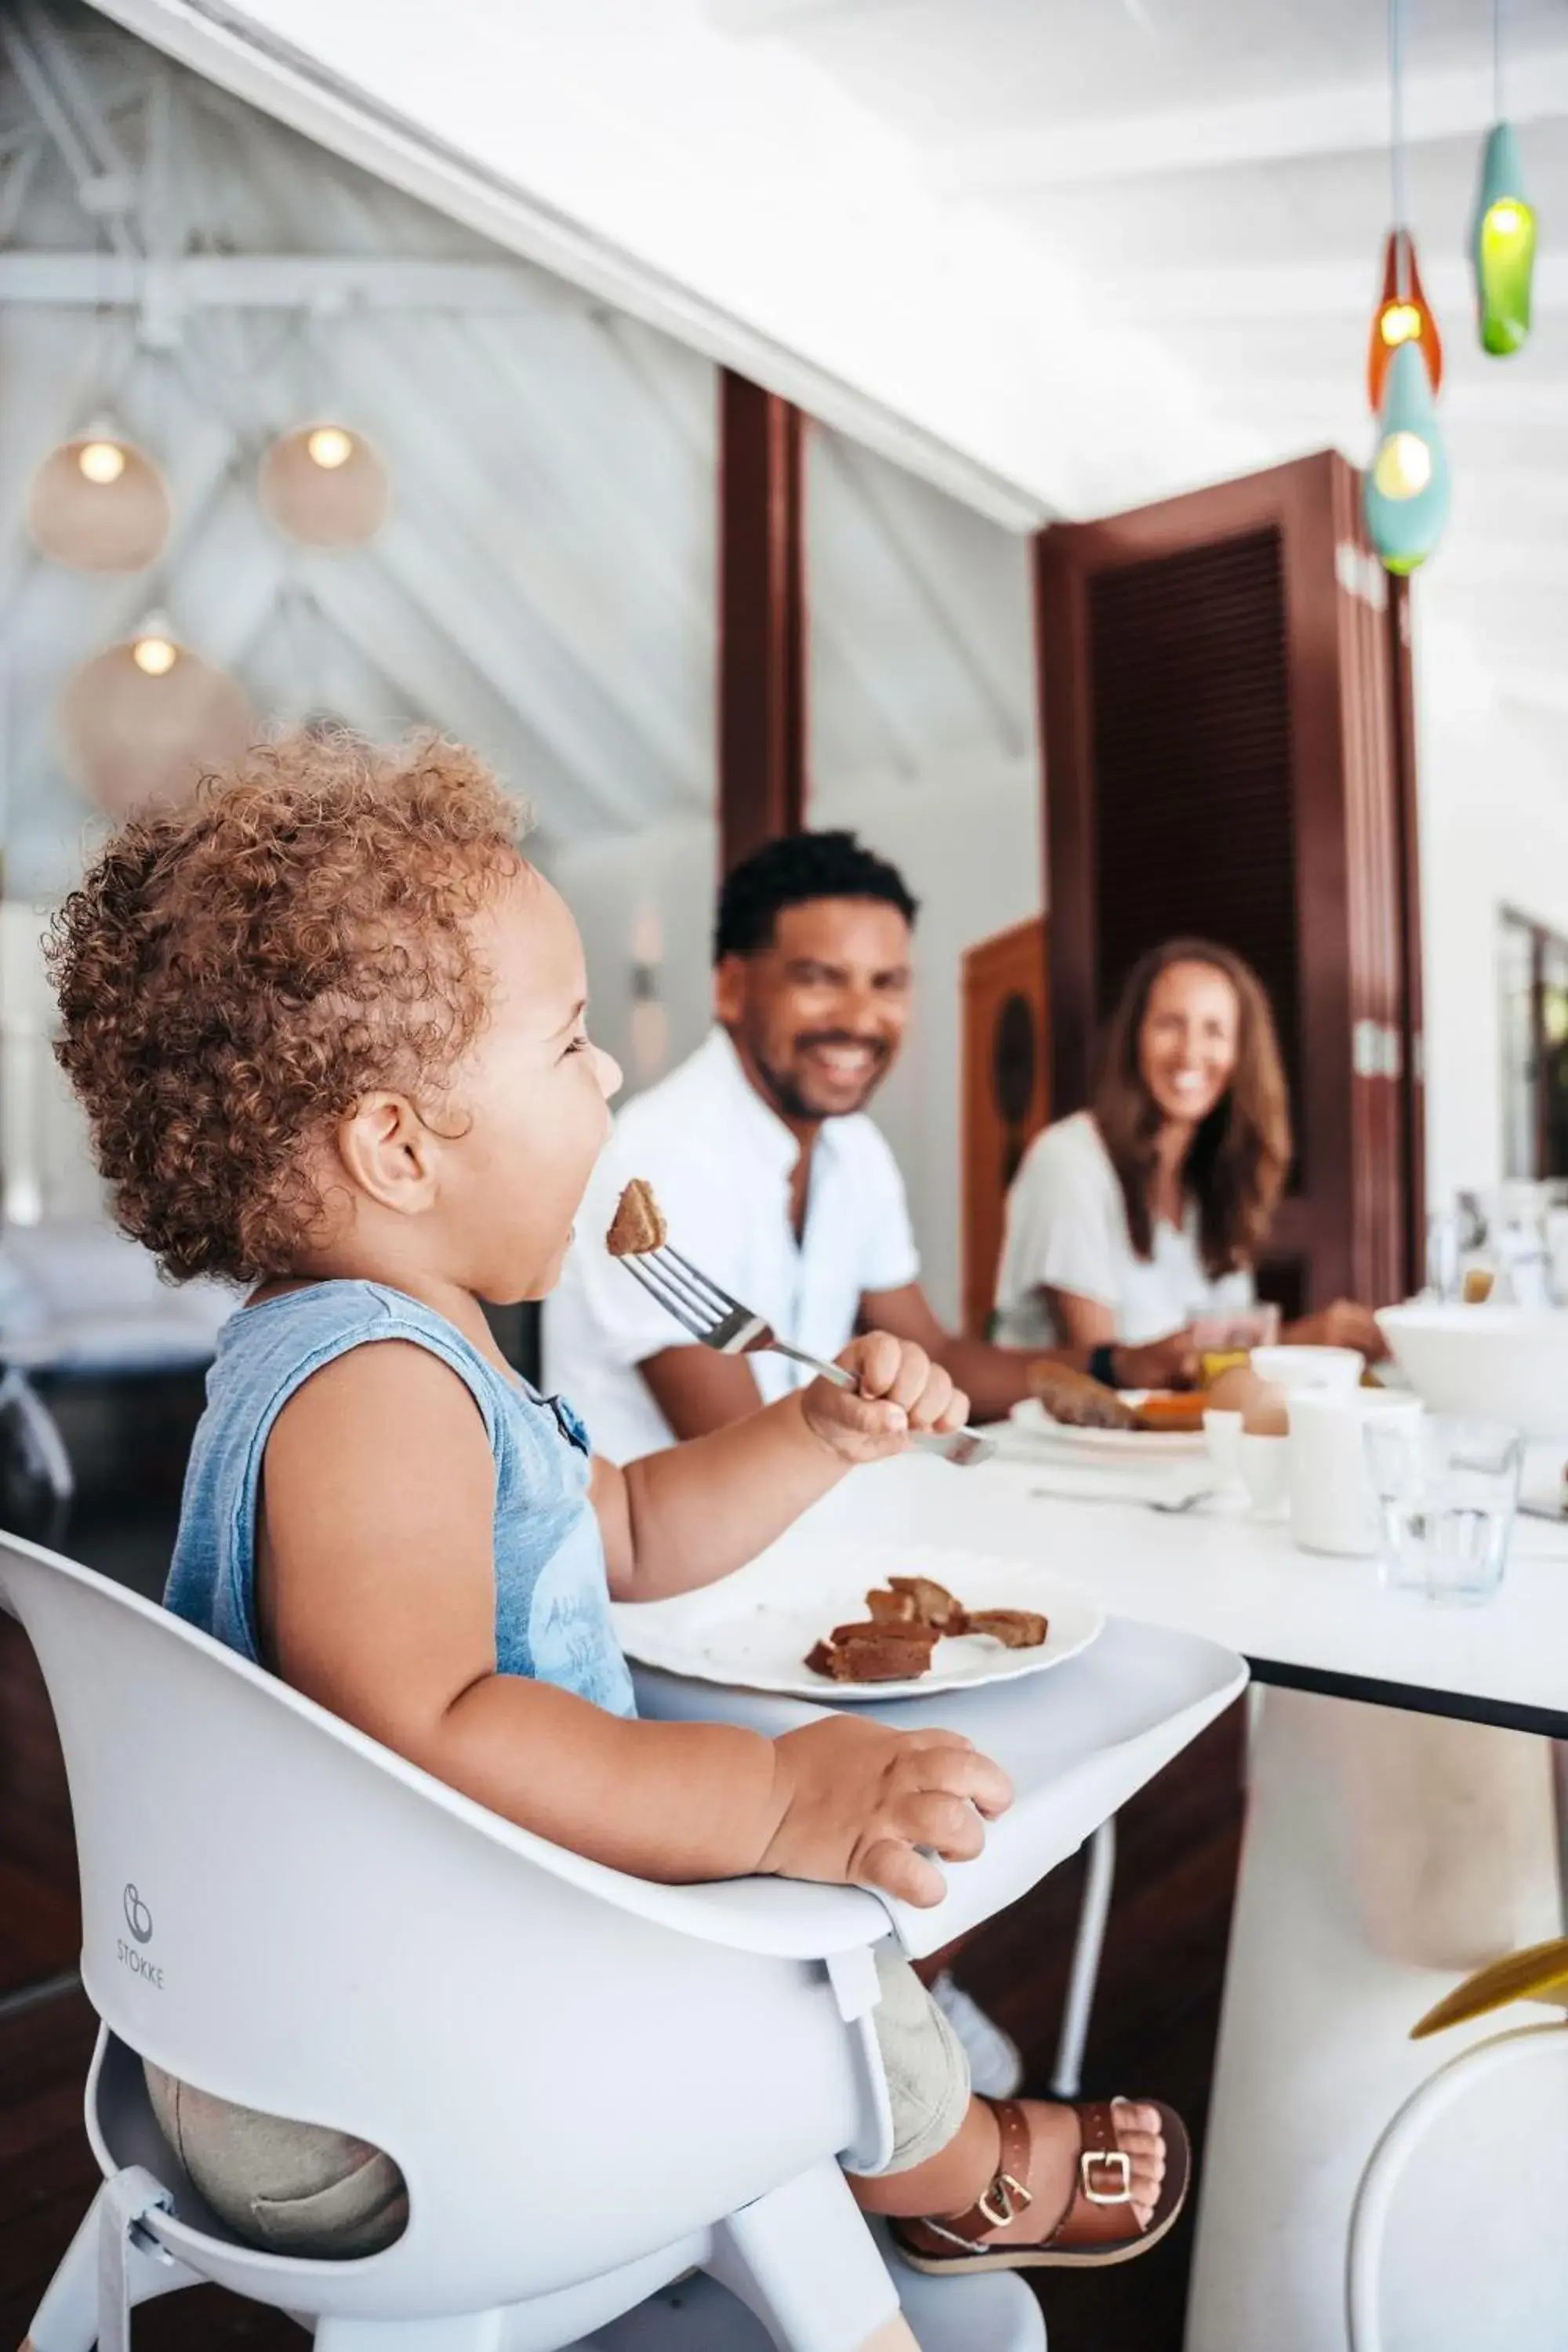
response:
[[(907, 2173), (952, 2140), (969, 2110), (969, 2058), (914, 1969), (877, 1955), (882, 2002), (872, 2011), (893, 2110), (884, 2173)], [(292, 2124), (195, 2091), (150, 2060), (158, 2129), (188, 2180), (237, 2237), (268, 2253), (336, 2258), (381, 2253), (409, 2223), (393, 2159), (324, 2124)]]

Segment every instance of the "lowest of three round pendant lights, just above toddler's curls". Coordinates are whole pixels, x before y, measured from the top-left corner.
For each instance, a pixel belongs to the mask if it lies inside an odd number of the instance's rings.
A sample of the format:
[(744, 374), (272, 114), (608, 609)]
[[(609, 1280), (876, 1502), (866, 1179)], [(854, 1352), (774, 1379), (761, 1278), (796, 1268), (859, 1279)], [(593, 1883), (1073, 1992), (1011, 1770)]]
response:
[(165, 614), (85, 661), (59, 701), (66, 767), (110, 816), (183, 800), (254, 734), (244, 689), (181, 644)]

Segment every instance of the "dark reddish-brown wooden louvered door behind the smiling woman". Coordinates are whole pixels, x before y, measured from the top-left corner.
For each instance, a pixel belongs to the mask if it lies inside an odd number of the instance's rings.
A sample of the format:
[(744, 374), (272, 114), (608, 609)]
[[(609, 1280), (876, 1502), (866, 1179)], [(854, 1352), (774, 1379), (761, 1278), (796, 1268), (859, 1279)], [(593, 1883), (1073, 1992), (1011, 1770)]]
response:
[(1420, 1225), (1408, 649), (1354, 470), (1324, 454), (1060, 524), (1037, 579), (1053, 1115), (1086, 1101), (1145, 948), (1237, 948), (1298, 1136), (1265, 1287), (1288, 1310), (1399, 1296)]

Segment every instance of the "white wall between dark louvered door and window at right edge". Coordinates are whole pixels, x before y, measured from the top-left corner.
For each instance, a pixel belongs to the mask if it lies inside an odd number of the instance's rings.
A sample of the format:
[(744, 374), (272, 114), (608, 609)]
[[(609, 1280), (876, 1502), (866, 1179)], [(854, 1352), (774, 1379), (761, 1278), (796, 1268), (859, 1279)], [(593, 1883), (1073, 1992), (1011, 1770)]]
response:
[(1502, 1176), (1497, 910), (1568, 934), (1568, 720), (1422, 696), (1420, 797), (1427, 1192), (1436, 1202)]

